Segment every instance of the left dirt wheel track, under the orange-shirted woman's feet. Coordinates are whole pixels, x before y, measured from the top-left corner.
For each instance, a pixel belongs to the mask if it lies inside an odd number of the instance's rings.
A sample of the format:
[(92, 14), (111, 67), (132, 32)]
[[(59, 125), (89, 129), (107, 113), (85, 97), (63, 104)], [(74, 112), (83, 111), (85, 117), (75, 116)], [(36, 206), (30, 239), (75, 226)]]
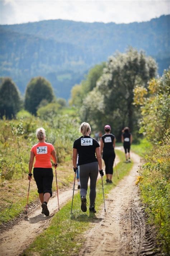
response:
[[(116, 163), (119, 162), (118, 157)], [(74, 174), (73, 174), (74, 176)], [(98, 176), (98, 178), (100, 175)], [(75, 186), (75, 193), (77, 193), (77, 185)], [(72, 189), (65, 190), (64, 192), (59, 191), (59, 203), (62, 208), (65, 203), (72, 198)], [(58, 211), (57, 197), (53, 197), (49, 201), (48, 209), (50, 216), (46, 217), (41, 214), (41, 206), (28, 214), (28, 219), (19, 221), (18, 224), (14, 225), (9, 230), (1, 234), (0, 239), (0, 255), (19, 255), (22, 253), (30, 243), (36, 238), (36, 236), (43, 232), (49, 226), (49, 222), (53, 215)]]

